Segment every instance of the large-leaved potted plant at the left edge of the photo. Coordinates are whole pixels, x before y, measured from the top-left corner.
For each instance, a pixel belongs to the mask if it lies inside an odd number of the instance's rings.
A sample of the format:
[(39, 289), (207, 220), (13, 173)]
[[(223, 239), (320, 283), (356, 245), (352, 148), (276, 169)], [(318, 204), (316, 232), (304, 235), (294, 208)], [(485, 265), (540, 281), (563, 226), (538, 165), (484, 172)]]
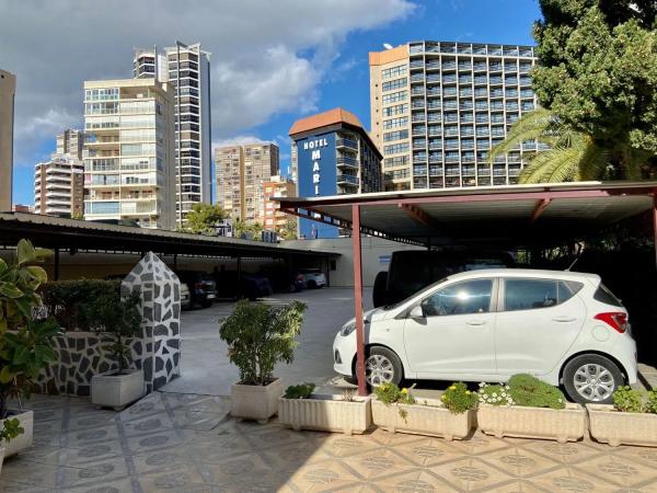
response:
[[(7, 443), (4, 457), (32, 445), (33, 413), (22, 410), (21, 399), (30, 397), (42, 369), (56, 358), (51, 344), (59, 326), (34, 318), (42, 306), (36, 290), (47, 275), (33, 264), (49, 255), (49, 251), (21, 240), (10, 264), (0, 259), (0, 420), (15, 419), (24, 431)], [(11, 398), (18, 399), (18, 410), (9, 409)]]

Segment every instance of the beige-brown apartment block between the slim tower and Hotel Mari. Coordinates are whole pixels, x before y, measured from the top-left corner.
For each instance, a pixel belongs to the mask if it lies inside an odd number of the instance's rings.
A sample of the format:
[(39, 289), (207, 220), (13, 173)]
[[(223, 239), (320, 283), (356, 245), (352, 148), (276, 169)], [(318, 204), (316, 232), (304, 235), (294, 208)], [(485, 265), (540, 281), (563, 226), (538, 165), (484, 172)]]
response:
[(280, 169), (278, 146), (256, 142), (215, 149), (217, 204), (232, 219), (262, 220), (264, 183)]

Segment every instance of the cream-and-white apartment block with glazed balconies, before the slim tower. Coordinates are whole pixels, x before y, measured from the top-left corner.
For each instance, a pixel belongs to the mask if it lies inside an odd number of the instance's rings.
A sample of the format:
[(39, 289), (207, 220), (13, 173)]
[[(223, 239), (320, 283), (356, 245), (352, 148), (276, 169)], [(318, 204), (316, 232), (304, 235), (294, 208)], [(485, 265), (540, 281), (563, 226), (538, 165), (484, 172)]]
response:
[(175, 228), (174, 114), (155, 79), (84, 82), (84, 219)]

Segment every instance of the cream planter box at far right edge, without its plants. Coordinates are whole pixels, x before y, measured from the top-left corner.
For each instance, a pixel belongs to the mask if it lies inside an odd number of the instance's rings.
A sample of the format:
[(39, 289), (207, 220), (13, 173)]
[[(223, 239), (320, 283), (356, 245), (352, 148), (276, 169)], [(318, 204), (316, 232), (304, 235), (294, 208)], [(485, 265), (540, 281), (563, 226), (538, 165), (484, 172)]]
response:
[(598, 442), (657, 447), (657, 414), (623, 413), (610, 404), (586, 404), (586, 409), (591, 436)]

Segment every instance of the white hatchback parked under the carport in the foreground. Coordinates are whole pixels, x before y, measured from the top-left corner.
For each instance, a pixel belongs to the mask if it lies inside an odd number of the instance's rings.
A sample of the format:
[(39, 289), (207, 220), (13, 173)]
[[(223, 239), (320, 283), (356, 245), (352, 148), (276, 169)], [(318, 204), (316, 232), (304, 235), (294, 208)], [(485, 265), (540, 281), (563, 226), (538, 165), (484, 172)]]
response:
[[(355, 321), (333, 343), (334, 369), (355, 375)], [(454, 274), (365, 313), (371, 386), (403, 378), (506, 381), (528, 372), (581, 403), (636, 382), (627, 311), (595, 274), (486, 270)]]

